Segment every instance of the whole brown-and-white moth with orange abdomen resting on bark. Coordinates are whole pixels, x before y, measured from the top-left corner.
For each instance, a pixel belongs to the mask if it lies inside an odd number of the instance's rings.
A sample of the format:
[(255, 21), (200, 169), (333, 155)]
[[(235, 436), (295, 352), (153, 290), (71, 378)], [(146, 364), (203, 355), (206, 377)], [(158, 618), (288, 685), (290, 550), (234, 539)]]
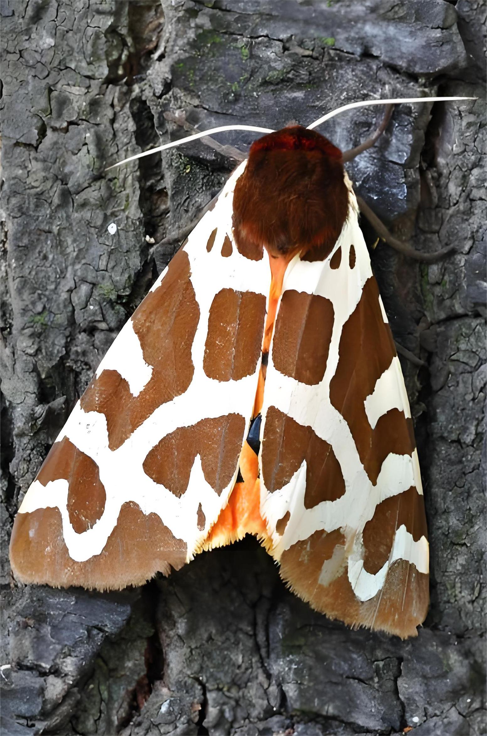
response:
[(26, 583), (120, 589), (245, 534), (330, 618), (404, 638), (426, 616), (399, 359), (341, 151), (300, 126), (252, 144), (121, 330), (10, 560)]

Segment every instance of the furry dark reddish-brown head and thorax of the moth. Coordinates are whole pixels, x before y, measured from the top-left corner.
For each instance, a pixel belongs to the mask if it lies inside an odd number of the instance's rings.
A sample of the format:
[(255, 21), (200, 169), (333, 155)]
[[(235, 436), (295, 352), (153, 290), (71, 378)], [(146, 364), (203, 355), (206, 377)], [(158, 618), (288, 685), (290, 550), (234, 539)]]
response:
[(326, 258), (348, 212), (341, 151), (301, 126), (265, 135), (252, 145), (235, 184), (233, 227), (243, 254), (258, 260), (294, 255)]

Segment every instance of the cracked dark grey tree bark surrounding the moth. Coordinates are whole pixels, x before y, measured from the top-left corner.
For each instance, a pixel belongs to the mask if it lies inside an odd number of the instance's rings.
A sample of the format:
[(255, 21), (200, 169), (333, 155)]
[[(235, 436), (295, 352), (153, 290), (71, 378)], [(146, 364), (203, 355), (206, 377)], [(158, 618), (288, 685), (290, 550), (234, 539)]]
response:
[[(379, 244), (432, 556), (419, 637), (349, 631), (291, 595), (253, 539), (117, 595), (21, 587), (18, 500), (110, 342), (234, 162), (201, 142), (104, 174), (184, 131), (282, 127), (345, 102), (482, 97), (483, 0), (1, 0), (1, 496), (5, 736), (485, 733), (485, 151), (483, 102), (395, 110), (348, 166), (419, 250)], [(380, 113), (379, 113), (380, 114)], [(377, 109), (321, 132), (347, 149)], [(245, 151), (252, 140), (225, 140)], [(117, 225), (115, 235), (107, 230)], [(371, 243), (374, 233), (368, 228)], [(171, 237), (171, 244), (160, 244)], [(154, 243), (154, 245), (152, 245)]]

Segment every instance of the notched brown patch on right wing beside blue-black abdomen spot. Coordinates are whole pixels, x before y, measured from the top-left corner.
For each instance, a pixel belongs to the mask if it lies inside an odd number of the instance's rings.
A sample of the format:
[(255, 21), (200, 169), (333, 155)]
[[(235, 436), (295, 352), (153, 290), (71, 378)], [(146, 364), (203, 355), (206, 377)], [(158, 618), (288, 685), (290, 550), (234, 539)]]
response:
[(262, 472), (266, 489), (273, 493), (285, 486), (306, 460), (305, 507), (334, 501), (344, 495), (341, 467), (328, 442), (311, 427), (295, 422), (270, 406), (262, 443)]

